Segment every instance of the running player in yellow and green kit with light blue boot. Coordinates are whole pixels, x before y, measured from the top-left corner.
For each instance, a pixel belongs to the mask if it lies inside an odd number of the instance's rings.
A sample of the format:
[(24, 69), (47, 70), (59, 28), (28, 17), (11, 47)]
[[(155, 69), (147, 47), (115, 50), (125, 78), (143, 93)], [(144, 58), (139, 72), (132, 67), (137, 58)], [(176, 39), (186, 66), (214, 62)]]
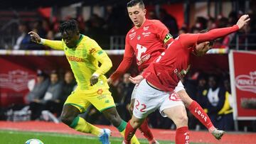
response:
[[(78, 23), (75, 20), (62, 23), (60, 33), (62, 40), (46, 40), (40, 38), (33, 31), (28, 34), (31, 35), (31, 40), (35, 43), (47, 45), (57, 50), (64, 50), (78, 82), (78, 87), (65, 101), (61, 121), (77, 131), (97, 135), (104, 144), (110, 143), (109, 129), (92, 126), (84, 118), (78, 116), (80, 113), (84, 113), (87, 107), (92, 104), (124, 136), (127, 123), (117, 113), (107, 85), (107, 78), (104, 76), (112, 67), (112, 62), (107, 53), (100, 48), (95, 40), (79, 33)], [(100, 67), (98, 67), (98, 62), (101, 63)], [(134, 137), (132, 143), (139, 143), (139, 141)]]

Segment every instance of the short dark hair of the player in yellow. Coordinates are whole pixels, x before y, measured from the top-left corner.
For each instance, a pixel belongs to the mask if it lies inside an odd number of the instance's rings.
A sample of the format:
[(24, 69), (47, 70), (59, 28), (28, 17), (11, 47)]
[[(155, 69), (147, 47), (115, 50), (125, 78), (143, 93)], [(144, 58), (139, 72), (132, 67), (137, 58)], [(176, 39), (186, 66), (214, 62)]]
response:
[(78, 22), (74, 19), (70, 19), (60, 24), (60, 33), (64, 33), (67, 31), (78, 31)]

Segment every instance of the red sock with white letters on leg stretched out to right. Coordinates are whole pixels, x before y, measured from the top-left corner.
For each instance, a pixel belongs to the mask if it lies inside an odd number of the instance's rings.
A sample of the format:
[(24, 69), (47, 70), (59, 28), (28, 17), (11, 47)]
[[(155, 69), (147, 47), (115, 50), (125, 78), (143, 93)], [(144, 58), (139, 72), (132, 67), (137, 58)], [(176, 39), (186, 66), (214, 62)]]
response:
[(203, 111), (203, 108), (196, 101), (193, 101), (188, 109), (193, 116), (196, 116), (196, 118), (203, 123), (203, 126), (208, 128), (208, 130), (213, 127), (213, 123), (210, 121), (209, 116), (205, 113), (205, 111)]

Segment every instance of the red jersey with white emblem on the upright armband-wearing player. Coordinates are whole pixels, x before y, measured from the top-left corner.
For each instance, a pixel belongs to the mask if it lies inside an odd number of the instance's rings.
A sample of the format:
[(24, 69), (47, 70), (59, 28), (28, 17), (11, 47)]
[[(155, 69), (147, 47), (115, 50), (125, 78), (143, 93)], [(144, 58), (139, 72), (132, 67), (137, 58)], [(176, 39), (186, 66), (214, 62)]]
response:
[(142, 72), (161, 52), (166, 50), (164, 40), (172, 37), (168, 34), (168, 28), (158, 20), (146, 19), (139, 28), (133, 27), (125, 38), (124, 58), (110, 78), (115, 80), (124, 74), (132, 64), (134, 55)]

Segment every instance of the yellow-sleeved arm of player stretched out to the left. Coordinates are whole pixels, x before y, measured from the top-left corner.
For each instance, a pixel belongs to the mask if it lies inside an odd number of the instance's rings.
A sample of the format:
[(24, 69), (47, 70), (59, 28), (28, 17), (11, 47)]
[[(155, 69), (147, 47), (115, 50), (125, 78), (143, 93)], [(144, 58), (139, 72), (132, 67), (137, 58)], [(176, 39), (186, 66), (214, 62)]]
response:
[(60, 40), (43, 39), (40, 38), (40, 36), (36, 32), (33, 31), (30, 31), (28, 34), (31, 35), (31, 41), (33, 41), (34, 43), (46, 45), (56, 50), (63, 50), (63, 43)]

